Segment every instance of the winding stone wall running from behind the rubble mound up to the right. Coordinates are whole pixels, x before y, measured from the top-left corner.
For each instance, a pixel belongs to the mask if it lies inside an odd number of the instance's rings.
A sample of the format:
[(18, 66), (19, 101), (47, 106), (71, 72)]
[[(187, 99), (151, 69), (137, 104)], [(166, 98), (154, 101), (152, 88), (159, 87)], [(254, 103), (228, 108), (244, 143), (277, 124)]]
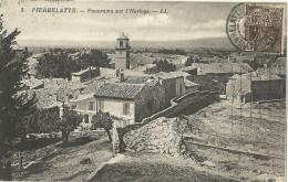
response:
[(172, 100), (172, 106), (152, 115), (151, 117), (143, 119), (142, 122), (128, 125), (124, 128), (116, 128), (117, 135), (115, 136), (117, 136), (119, 138), (113, 139), (113, 141), (120, 143), (113, 143), (113, 146), (116, 146), (117, 150), (124, 151), (125, 143), (123, 141), (123, 137), (128, 131), (138, 129), (144, 125), (151, 122), (152, 120), (155, 120), (161, 117), (167, 117), (167, 118), (175, 117), (187, 108), (192, 108), (193, 111), (197, 111), (202, 109), (200, 106), (208, 106), (218, 99), (219, 99), (219, 94), (217, 92), (214, 93), (195, 92), (195, 93), (189, 93), (187, 95), (184, 95), (183, 97), (175, 98)]

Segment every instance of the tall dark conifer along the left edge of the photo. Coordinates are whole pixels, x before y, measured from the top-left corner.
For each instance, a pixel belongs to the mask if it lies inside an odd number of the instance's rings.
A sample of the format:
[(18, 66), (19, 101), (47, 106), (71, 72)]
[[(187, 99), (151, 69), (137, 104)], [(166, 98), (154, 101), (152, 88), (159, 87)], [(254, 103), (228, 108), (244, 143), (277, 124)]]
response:
[(0, 15), (0, 180), (12, 180), (10, 147), (19, 137), (17, 126), (34, 105), (34, 97), (28, 99), (27, 94), (18, 94), (22, 88), (20, 81), (28, 73), (27, 54), (12, 49), (19, 33), (17, 29), (11, 33), (3, 30)]

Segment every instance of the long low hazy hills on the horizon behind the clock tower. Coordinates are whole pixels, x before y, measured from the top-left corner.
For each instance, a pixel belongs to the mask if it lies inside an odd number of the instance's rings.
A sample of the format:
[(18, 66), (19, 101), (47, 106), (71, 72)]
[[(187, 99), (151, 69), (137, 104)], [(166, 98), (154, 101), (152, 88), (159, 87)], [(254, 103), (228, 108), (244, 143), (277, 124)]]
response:
[[(116, 41), (18, 41), (20, 46), (43, 46), (43, 47), (99, 47), (99, 49), (114, 49)], [(233, 49), (227, 38), (212, 38), (186, 41), (131, 41), (132, 49), (140, 47), (216, 47), (216, 49)]]

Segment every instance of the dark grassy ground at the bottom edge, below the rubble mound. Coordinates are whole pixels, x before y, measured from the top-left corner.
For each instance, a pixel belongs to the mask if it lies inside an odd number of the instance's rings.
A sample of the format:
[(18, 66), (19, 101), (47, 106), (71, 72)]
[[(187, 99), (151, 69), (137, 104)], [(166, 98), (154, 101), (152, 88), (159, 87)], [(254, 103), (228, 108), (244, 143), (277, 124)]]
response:
[[(113, 172), (111, 172), (113, 171)], [(120, 162), (105, 165), (94, 181), (215, 181), (233, 182), (228, 172), (218, 172), (197, 164), (191, 158), (158, 153), (125, 153)]]

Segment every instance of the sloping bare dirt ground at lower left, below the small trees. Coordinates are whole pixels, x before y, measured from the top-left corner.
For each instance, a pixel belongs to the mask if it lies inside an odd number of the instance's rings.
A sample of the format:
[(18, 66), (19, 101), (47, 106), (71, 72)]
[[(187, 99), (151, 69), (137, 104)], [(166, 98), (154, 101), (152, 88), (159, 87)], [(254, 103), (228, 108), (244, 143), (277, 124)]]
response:
[[(47, 154), (39, 163), (24, 171), (22, 181), (83, 181), (102, 162), (113, 157), (112, 144), (106, 137), (75, 147), (50, 146), (52, 154)], [(51, 152), (50, 152), (51, 153)], [(91, 163), (80, 164), (83, 159)]]

